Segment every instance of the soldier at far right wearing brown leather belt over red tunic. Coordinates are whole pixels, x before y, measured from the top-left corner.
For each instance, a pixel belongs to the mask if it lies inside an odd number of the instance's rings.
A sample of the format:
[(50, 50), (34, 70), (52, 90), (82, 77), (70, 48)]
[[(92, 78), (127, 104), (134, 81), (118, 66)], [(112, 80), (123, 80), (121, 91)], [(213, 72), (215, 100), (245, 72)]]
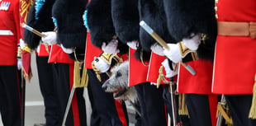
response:
[(249, 119), (256, 74), (256, 1), (216, 1), (218, 36), (213, 93), (224, 94), (234, 126), (256, 125)]

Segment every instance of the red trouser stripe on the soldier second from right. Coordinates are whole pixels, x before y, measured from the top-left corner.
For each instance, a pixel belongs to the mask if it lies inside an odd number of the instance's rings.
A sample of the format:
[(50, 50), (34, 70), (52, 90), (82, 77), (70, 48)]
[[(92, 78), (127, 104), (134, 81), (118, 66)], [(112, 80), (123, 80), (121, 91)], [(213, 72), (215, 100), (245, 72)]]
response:
[(217, 104), (218, 104), (218, 96), (217, 95), (209, 95), (209, 107), (211, 112), (211, 125), (215, 126), (217, 123)]

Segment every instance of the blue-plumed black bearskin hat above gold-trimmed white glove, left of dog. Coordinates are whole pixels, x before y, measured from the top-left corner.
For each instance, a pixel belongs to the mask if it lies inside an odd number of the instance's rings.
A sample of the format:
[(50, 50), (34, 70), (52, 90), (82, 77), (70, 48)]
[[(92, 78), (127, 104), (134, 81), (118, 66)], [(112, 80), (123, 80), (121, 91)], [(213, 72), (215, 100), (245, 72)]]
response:
[[(111, 17), (111, 0), (92, 0), (87, 7), (87, 21), (92, 44), (102, 48), (103, 42), (110, 42), (116, 36), (116, 30)], [(119, 41), (117, 48), (120, 54), (128, 52), (128, 46)]]

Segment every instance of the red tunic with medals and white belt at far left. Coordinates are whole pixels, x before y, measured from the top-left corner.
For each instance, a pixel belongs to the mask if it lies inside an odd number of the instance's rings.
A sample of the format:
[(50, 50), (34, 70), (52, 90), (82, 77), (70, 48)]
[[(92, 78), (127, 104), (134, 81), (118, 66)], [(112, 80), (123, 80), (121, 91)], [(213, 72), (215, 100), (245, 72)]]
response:
[[(19, 0), (0, 1), (0, 65), (17, 64), (17, 44), (21, 39), (19, 18)], [(12, 33), (7, 35), (6, 32)]]

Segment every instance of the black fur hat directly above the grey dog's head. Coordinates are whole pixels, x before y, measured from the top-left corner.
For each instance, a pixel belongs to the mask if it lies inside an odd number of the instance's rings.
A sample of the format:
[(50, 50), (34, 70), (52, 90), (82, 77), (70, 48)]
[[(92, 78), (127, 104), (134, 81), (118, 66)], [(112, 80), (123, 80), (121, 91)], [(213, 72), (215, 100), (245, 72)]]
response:
[(111, 16), (116, 35), (122, 42), (140, 40), (138, 0), (111, 0)]

